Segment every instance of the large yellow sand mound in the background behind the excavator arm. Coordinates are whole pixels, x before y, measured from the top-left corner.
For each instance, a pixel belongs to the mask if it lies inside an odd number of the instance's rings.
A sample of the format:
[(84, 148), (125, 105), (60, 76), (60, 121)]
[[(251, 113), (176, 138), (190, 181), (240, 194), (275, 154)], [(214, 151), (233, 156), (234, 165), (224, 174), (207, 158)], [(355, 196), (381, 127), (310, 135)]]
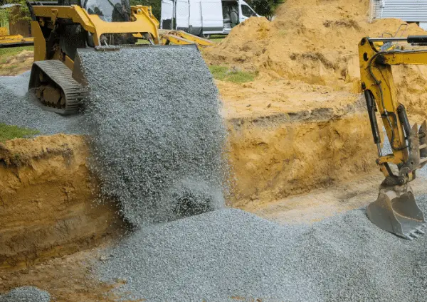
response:
[[(359, 92), (360, 39), (395, 33), (404, 23), (398, 19), (369, 23), (368, 14), (368, 0), (288, 0), (279, 7), (274, 21), (250, 18), (233, 28), (222, 43), (207, 49), (205, 58), (211, 64), (258, 70), (258, 80), (300, 80)], [(422, 34), (426, 32), (413, 23), (405, 36)], [(396, 77), (399, 95), (412, 111), (421, 113), (419, 95), (427, 91), (419, 84), (427, 81), (427, 69), (396, 69), (396, 75), (405, 74)]]

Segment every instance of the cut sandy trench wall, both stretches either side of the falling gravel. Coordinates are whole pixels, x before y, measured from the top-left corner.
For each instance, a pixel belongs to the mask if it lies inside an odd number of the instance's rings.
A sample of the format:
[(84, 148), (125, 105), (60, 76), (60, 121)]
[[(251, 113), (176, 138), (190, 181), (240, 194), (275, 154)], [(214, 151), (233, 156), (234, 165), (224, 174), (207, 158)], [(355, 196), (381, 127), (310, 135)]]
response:
[[(228, 205), (250, 209), (370, 173), (371, 134), (357, 108), (333, 117), (321, 110), (228, 119)], [(39, 136), (0, 146), (1, 269), (90, 249), (123, 232), (117, 206), (97, 201), (83, 136)]]

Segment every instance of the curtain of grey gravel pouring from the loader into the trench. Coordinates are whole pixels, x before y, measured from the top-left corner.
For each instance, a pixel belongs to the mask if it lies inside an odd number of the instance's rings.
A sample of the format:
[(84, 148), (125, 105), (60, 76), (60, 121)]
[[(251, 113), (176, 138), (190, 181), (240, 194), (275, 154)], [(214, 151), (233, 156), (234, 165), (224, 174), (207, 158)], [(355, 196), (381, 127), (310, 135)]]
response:
[(120, 200), (135, 226), (221, 207), (226, 131), (199, 51), (79, 54), (90, 86), (85, 125), (102, 194)]

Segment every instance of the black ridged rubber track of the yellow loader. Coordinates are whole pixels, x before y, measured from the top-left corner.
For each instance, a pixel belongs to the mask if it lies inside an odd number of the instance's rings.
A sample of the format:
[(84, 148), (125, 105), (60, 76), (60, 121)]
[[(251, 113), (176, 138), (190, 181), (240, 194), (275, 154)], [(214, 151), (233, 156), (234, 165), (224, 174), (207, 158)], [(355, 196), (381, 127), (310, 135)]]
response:
[(55, 83), (63, 95), (65, 95), (65, 106), (58, 108), (49, 106), (38, 99), (38, 104), (43, 109), (56, 112), (61, 115), (78, 114), (82, 100), (88, 95), (86, 87), (74, 80), (73, 72), (60, 60), (46, 60), (33, 63), (28, 90), (34, 90), (41, 85), (40, 72)]

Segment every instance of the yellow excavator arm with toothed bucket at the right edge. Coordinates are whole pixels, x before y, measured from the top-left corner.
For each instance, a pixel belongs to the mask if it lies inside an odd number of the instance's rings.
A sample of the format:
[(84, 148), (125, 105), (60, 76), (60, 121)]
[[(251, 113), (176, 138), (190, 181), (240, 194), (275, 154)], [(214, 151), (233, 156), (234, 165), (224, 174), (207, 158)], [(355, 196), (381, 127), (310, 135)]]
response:
[[(378, 43), (410, 43), (410, 50), (383, 49)], [(386, 177), (379, 188), (378, 198), (368, 205), (367, 216), (381, 229), (406, 239), (424, 234), (426, 220), (418, 207), (409, 183), (416, 170), (427, 163), (427, 124), (418, 127), (408, 121), (406, 109), (396, 97), (391, 67), (401, 64), (427, 65), (427, 36), (407, 38), (363, 38), (359, 43), (362, 90), (367, 102), (371, 130), (378, 150), (376, 163)], [(381, 117), (391, 146), (383, 154), (377, 123)], [(394, 168), (394, 169), (393, 169)]]

